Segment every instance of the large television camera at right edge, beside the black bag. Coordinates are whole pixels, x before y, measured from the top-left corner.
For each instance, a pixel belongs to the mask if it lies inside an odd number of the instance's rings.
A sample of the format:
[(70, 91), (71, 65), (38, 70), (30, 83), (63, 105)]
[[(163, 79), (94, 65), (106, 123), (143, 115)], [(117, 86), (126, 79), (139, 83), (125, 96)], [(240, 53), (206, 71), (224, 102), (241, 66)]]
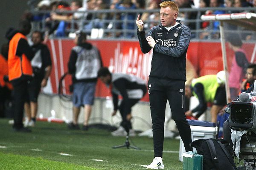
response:
[(256, 92), (241, 93), (226, 110), (234, 151), (244, 166), (238, 170), (256, 170)]

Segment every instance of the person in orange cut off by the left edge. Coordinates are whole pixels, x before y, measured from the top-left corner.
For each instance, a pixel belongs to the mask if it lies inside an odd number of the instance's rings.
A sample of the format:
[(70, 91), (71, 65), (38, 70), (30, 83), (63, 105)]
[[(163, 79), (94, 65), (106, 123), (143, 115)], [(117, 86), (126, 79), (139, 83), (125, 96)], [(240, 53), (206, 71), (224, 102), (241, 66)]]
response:
[(11, 99), (12, 85), (8, 82), (8, 44), (3, 44), (0, 54), (0, 117), (5, 114), (5, 102)]

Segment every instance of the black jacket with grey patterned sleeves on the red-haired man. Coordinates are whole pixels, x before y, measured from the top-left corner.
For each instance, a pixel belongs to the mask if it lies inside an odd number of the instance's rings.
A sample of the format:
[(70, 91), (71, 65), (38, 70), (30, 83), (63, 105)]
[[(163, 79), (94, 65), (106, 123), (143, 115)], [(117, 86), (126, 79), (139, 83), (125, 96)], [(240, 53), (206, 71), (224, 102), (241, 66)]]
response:
[[(151, 72), (149, 77), (163, 79), (177, 79), (186, 81), (186, 52), (190, 42), (190, 29), (182, 25), (180, 20), (177, 26), (168, 31), (163, 26), (154, 26), (148, 32), (156, 41)], [(145, 31), (137, 29), (141, 51), (145, 54), (151, 50), (145, 38)]]

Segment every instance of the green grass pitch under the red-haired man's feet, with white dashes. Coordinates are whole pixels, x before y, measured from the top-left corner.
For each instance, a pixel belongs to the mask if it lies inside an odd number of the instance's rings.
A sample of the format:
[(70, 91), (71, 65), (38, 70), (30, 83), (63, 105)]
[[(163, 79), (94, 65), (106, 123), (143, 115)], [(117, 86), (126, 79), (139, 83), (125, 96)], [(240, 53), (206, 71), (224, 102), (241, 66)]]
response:
[[(141, 150), (112, 146), (125, 137), (108, 130), (68, 130), (66, 124), (37, 122), (32, 133), (12, 131), (8, 119), (0, 119), (0, 170), (143, 170), (153, 157), (153, 139), (131, 137)], [(182, 170), (178, 161), (179, 140), (165, 139), (166, 170)], [(69, 154), (69, 156), (61, 155)]]

